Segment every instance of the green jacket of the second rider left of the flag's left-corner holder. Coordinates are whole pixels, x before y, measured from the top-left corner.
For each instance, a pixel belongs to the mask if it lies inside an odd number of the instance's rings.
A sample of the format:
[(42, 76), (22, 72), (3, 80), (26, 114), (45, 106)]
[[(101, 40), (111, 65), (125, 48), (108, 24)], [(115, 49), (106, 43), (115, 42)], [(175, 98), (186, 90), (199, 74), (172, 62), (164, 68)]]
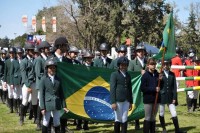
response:
[(22, 75), (22, 84), (26, 87), (30, 87), (33, 82), (35, 82), (35, 70), (34, 64), (25, 57), (20, 63), (20, 71)]

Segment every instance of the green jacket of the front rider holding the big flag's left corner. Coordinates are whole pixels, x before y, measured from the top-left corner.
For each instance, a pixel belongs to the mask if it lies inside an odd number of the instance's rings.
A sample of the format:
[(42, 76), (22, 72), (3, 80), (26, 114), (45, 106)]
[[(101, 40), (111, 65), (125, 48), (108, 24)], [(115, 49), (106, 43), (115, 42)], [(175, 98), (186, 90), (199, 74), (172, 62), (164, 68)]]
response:
[(53, 111), (66, 107), (61, 81), (57, 76), (54, 78), (54, 84), (49, 76), (42, 77), (39, 101), (41, 110)]

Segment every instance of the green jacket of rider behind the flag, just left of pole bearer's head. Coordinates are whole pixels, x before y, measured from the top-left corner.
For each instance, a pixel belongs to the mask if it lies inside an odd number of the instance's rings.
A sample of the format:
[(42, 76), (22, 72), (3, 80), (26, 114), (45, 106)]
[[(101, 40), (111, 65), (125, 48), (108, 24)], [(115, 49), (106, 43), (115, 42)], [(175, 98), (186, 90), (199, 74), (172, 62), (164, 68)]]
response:
[(134, 60), (129, 61), (128, 71), (141, 71), (145, 70), (146, 60), (144, 60), (144, 66), (142, 67), (140, 61), (136, 57)]

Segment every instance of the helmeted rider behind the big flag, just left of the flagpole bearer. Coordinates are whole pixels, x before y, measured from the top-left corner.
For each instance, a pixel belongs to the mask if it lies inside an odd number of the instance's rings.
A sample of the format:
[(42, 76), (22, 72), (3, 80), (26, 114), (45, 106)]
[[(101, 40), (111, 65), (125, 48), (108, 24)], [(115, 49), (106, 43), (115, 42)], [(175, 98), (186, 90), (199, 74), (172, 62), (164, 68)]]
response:
[[(141, 72), (142, 75), (145, 73), (145, 68), (147, 63), (147, 60), (145, 58), (145, 52), (146, 49), (142, 43), (136, 46), (136, 57), (130, 61), (128, 66), (128, 71)], [(135, 130), (139, 129), (140, 129), (140, 123), (138, 119), (135, 120)]]

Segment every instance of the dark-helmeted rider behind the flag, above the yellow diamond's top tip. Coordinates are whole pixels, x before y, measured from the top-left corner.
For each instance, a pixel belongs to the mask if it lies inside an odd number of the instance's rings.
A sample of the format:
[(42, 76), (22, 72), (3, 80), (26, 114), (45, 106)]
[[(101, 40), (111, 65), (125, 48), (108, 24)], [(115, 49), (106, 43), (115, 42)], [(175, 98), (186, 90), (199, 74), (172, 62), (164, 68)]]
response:
[(107, 57), (109, 46), (107, 43), (102, 43), (99, 47), (100, 56), (94, 59), (94, 67), (110, 68), (112, 59)]

